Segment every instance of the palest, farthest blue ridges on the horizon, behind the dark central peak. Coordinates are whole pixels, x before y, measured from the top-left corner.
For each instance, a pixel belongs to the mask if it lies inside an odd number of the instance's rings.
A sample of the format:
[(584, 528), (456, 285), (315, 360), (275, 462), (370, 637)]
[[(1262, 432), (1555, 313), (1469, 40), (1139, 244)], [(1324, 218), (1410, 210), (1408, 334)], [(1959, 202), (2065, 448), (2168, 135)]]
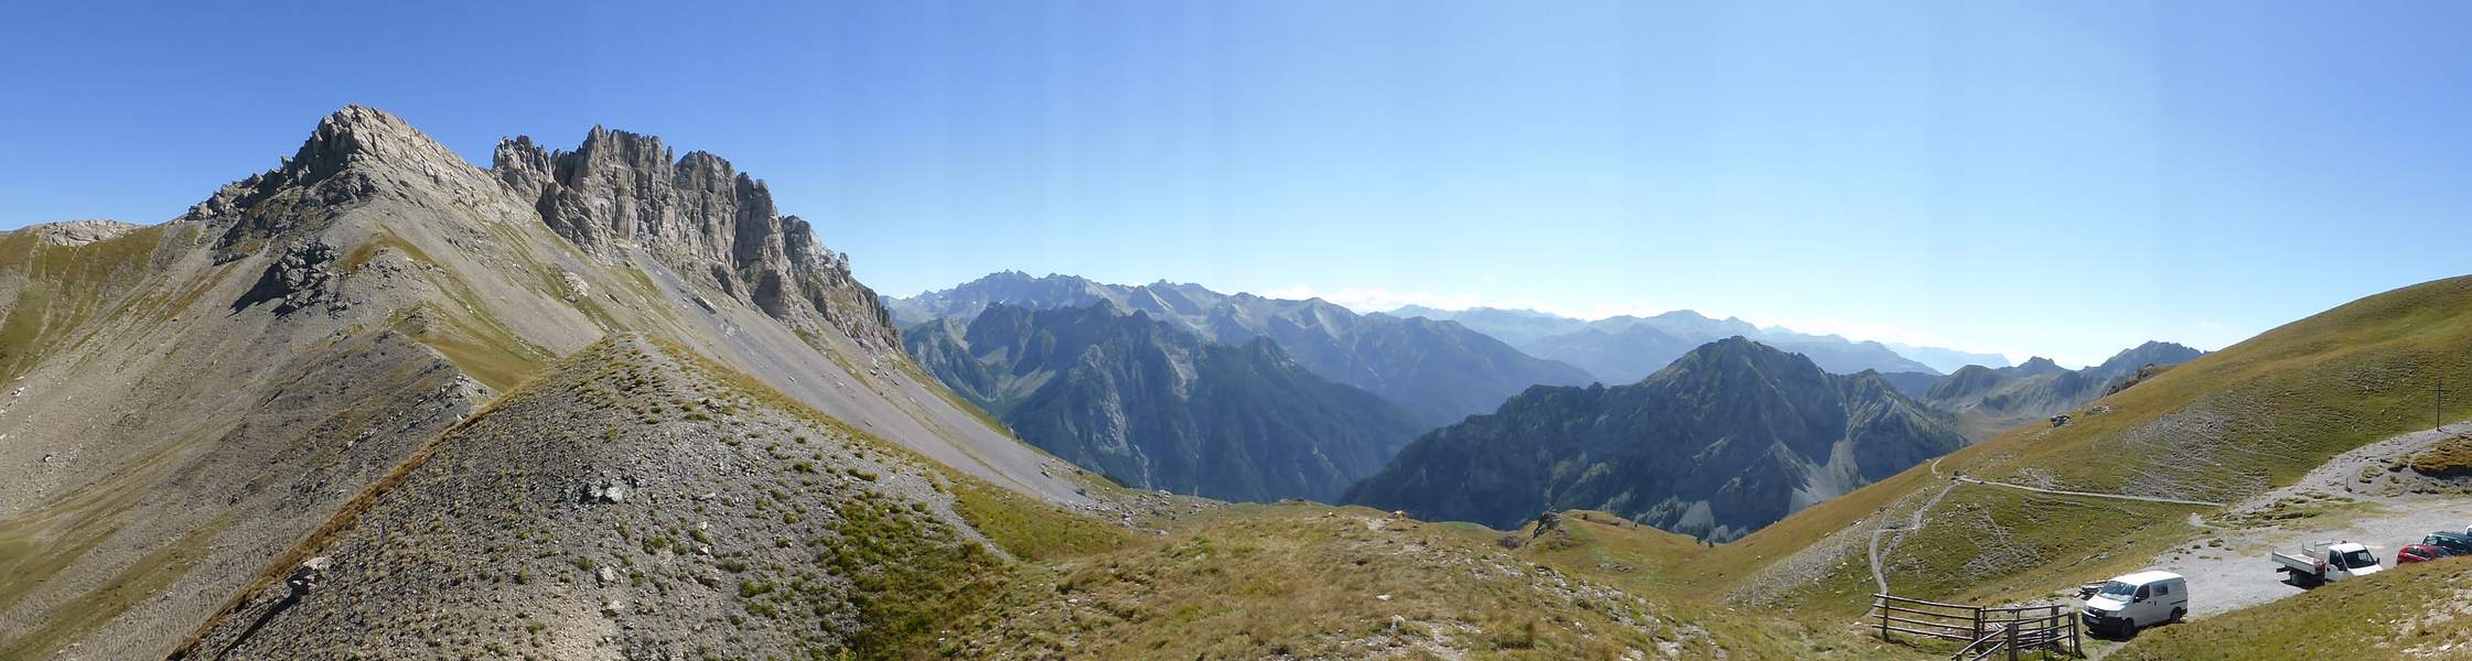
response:
[[(1528, 355), (1580, 365), (1582, 370), (1609, 385), (1636, 382), (1649, 372), (1664, 370), (1666, 363), (1674, 363), (1674, 358), (1681, 358), (1691, 348), (1735, 335), (1810, 355), (1812, 363), (1819, 365), (1819, 370), (1837, 375), (1854, 375), (1861, 370), (1928, 372), (1928, 375), (1941, 372), (1941, 367), (1908, 358), (1894, 350), (1891, 345), (1869, 340), (1856, 343), (1839, 335), (1795, 333), (1775, 326), (1760, 328), (1740, 318), (1708, 318), (1696, 311), (1577, 321), (1540, 311), (1505, 311), (1505, 308), (1441, 311), (1426, 306), (1404, 306), (1389, 311), (1389, 316), (1458, 321), (1461, 326), (1501, 338), (1503, 343), (1510, 343), (1513, 348), (1525, 350)], [(1963, 355), (1941, 348), (1926, 348), (1918, 353), (1928, 353), (1933, 355), (1933, 360), (1948, 355)], [(1992, 360), (1980, 360), (1980, 363), (1992, 363)], [(2007, 360), (1997, 363), (2007, 365)]]

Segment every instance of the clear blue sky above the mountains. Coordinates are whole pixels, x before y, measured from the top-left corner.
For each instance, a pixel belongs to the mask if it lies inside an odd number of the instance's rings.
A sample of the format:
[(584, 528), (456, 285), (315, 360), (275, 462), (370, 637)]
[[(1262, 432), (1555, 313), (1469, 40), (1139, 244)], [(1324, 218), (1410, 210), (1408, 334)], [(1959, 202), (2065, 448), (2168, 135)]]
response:
[(0, 227), (344, 104), (606, 123), (917, 294), (996, 269), (2101, 360), (2472, 266), (2472, 2), (10, 2)]

